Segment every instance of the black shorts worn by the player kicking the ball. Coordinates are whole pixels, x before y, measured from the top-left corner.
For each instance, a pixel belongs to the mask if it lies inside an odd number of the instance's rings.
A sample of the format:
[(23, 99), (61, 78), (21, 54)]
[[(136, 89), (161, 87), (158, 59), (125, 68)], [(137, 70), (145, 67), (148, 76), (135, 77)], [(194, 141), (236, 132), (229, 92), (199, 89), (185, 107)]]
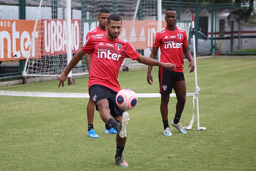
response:
[(99, 111), (96, 103), (102, 99), (107, 99), (109, 103), (110, 114), (115, 118), (116, 116), (122, 116), (125, 112), (116, 105), (117, 92), (109, 89), (108, 87), (94, 84), (89, 88), (89, 95), (92, 101), (95, 103), (96, 110)]

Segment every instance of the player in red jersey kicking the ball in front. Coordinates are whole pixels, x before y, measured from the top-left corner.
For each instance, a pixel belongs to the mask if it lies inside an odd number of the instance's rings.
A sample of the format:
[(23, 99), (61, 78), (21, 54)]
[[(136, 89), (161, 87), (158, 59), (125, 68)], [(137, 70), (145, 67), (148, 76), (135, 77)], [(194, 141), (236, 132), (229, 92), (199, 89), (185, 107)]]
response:
[[(66, 69), (59, 76), (59, 87), (67, 79), (68, 73), (83, 58), (84, 54), (92, 53), (92, 66), (88, 81), (89, 94), (95, 103), (96, 110), (100, 112), (101, 119), (114, 128), (116, 134), (115, 161), (121, 167), (128, 167), (123, 159), (126, 143), (126, 126), (130, 121), (129, 114), (116, 105), (116, 94), (121, 89), (117, 81), (119, 69), (124, 58), (132, 58), (150, 66), (162, 66), (169, 70), (176, 69), (172, 63), (164, 63), (147, 58), (138, 53), (134, 47), (118, 35), (122, 28), (122, 18), (117, 14), (108, 16), (106, 24), (107, 34), (89, 37), (81, 50), (71, 59)], [(120, 122), (115, 120), (118, 118)]]

